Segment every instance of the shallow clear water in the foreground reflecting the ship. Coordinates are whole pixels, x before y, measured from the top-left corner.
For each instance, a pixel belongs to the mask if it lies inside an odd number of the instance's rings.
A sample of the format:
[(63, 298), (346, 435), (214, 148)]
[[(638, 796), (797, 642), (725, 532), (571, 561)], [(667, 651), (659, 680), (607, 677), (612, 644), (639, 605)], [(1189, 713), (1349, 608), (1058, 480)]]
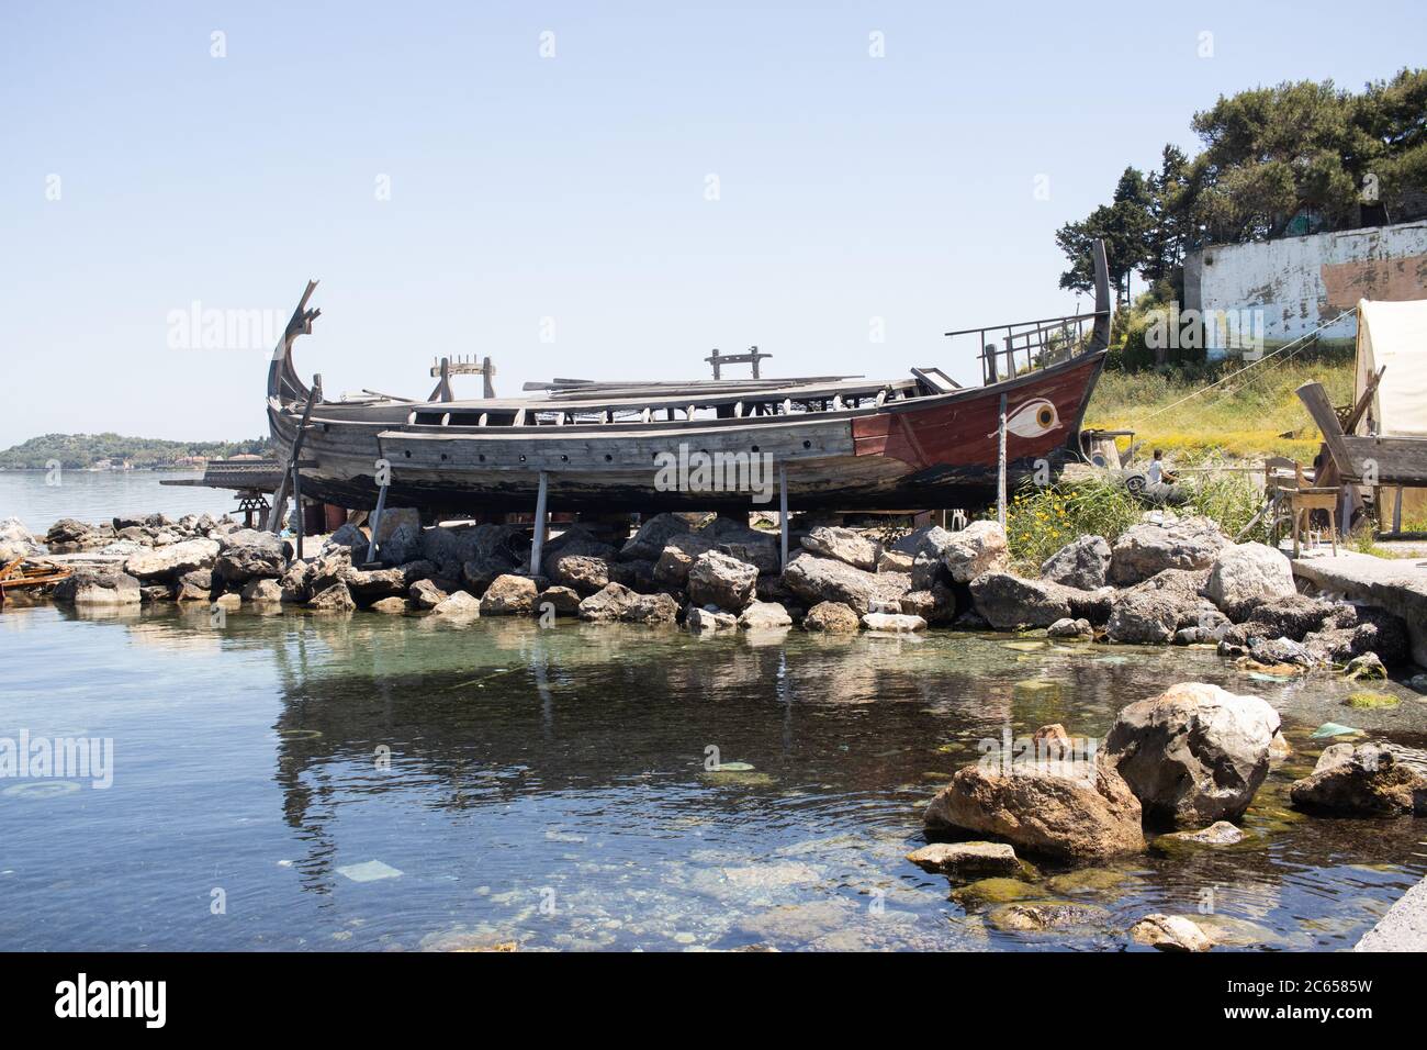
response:
[[(1420, 821), (1286, 809), (1311, 729), (1421, 746), (1416, 694), (1354, 711), (1209, 650), (1007, 640), (10, 607), (0, 736), (111, 737), (114, 781), (0, 781), (0, 949), (1120, 949), (1203, 910), (1343, 949), (1427, 867)], [(1097, 736), (1187, 679), (1264, 696), (1297, 749), (1250, 847), (1042, 867), (1030, 897), (1103, 909), (1056, 934), (1002, 933), (903, 859), (977, 740)], [(711, 746), (752, 769), (706, 773)]]

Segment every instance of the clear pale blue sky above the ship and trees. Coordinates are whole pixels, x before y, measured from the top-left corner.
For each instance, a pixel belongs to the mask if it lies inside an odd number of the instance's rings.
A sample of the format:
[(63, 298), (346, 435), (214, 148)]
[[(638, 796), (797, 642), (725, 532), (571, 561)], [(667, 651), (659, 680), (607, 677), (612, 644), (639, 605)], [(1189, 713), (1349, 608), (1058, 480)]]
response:
[(0, 446), (264, 433), (265, 350), (170, 349), (168, 314), (285, 316), (308, 277), (297, 366), (330, 394), (425, 394), (437, 353), (491, 354), (515, 393), (751, 343), (772, 374), (970, 379), (940, 333), (1073, 310), (1053, 233), (1126, 163), (1193, 147), (1220, 93), (1420, 64), (1424, 26), (1417, 3), (4, 0)]

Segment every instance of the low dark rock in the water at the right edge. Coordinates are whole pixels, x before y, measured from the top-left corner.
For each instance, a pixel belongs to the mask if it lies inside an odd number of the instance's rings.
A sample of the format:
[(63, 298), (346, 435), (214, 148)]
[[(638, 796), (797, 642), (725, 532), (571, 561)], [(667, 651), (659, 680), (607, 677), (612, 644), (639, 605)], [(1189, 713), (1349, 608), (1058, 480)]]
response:
[[(1349, 751), (1347, 749), (1351, 749)], [(1381, 744), (1333, 744), (1289, 789), (1293, 804), (1343, 816), (1427, 816), (1427, 774)]]

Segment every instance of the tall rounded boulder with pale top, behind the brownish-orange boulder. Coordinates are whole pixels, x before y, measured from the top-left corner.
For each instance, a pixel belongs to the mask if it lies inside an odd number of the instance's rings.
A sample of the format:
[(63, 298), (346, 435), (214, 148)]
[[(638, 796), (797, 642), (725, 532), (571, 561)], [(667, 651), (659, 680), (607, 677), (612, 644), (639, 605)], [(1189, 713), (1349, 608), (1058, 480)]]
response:
[(1269, 774), (1279, 713), (1256, 696), (1182, 681), (1120, 710), (1104, 739), (1146, 817), (1209, 824), (1243, 816)]

